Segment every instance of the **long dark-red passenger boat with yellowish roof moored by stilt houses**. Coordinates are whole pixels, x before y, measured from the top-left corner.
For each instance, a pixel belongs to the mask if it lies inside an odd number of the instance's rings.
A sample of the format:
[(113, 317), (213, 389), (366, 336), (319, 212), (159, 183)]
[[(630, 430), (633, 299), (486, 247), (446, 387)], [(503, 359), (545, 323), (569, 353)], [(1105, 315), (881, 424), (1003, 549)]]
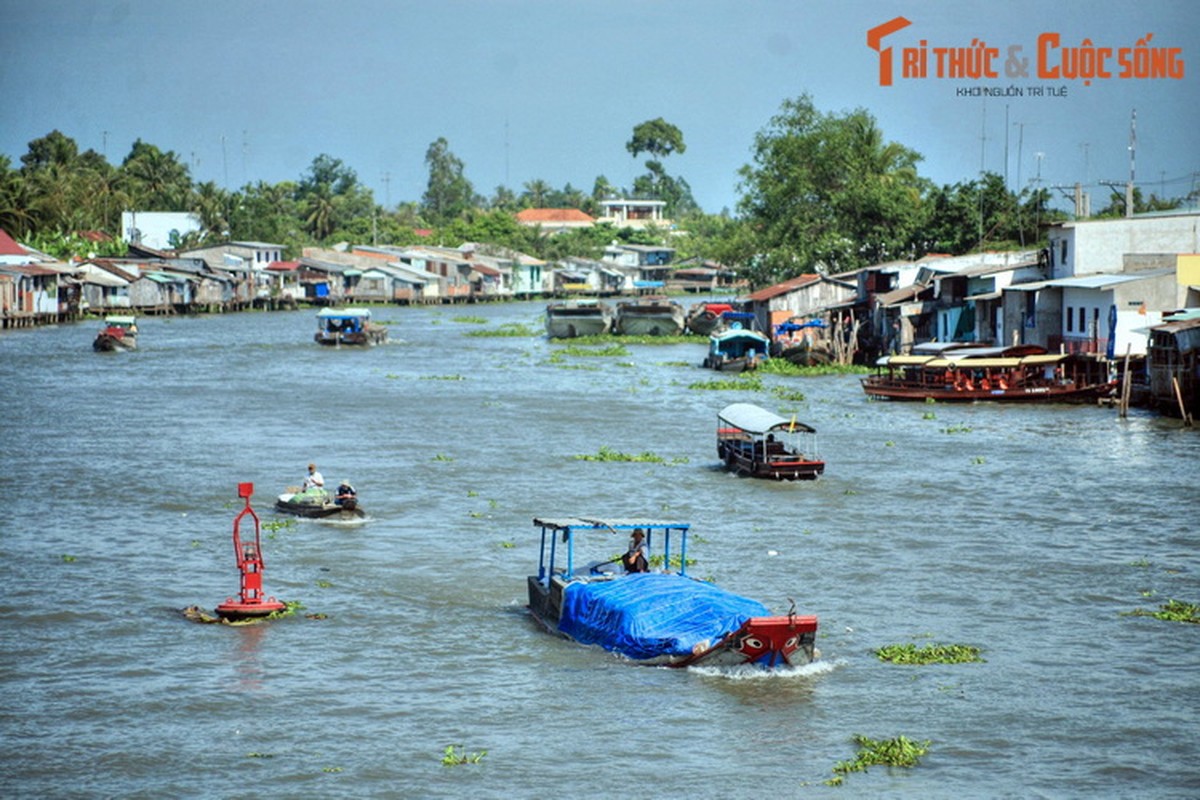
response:
[(911, 355), (881, 357), (875, 369), (862, 379), (863, 391), (886, 399), (1084, 403), (1116, 389), (1103, 361), (1033, 344), (918, 345)]

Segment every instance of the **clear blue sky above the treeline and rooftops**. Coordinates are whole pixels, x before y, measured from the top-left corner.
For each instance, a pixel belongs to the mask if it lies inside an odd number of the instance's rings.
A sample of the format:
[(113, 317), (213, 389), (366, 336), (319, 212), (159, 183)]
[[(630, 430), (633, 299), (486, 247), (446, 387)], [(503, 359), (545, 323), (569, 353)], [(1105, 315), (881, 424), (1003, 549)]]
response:
[[(998, 77), (881, 86), (866, 31), (895, 17), (911, 23), (884, 40), (898, 64), (920, 41), (983, 41)], [(1114, 55), (1091, 85), (1007, 76), (1009, 47), (1032, 61), (1044, 32), (1061, 35), (1056, 64), (1085, 38), (1115, 54), (1151, 34), (1184, 74), (1123, 79)], [(984, 86), (1024, 96), (959, 92)], [(1129, 178), (1136, 109), (1144, 191), (1200, 186), (1194, 0), (0, 0), (0, 155), (18, 166), (55, 128), (113, 163), (140, 138), (229, 188), (298, 180), (328, 154), (395, 205), (420, 199), (445, 137), (481, 194), (533, 179), (589, 192), (644, 172), (624, 145), (661, 116), (688, 146), (666, 170), (716, 212), (736, 206), (755, 134), (804, 92), (823, 112), (869, 110), (938, 184), (980, 169), (1012, 187), (1079, 181), (1093, 207), (1104, 181)]]

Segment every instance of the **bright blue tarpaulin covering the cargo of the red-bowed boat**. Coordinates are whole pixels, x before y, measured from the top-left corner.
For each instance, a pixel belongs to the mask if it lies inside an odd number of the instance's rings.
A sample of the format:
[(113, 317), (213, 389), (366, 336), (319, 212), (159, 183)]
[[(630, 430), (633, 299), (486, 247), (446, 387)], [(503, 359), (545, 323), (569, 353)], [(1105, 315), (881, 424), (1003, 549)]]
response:
[(750, 600), (679, 575), (643, 572), (598, 583), (570, 583), (558, 630), (630, 658), (690, 655), (715, 644), (751, 616), (769, 616)]

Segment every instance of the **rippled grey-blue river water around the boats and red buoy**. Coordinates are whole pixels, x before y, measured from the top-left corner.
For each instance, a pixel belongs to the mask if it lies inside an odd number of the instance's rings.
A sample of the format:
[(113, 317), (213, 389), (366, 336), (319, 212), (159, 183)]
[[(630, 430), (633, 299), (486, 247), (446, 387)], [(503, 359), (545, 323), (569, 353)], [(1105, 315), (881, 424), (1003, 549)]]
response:
[[(150, 318), (125, 354), (95, 324), (4, 332), (0, 794), (1200, 795), (1200, 626), (1126, 614), (1200, 602), (1200, 432), (869, 402), (848, 375), (702, 390), (701, 343), (472, 335), (541, 308), (376, 308), (371, 350), (316, 345), (310, 311)], [(720, 470), (738, 401), (815, 426), (824, 477)], [(576, 458), (602, 447), (664, 462)], [(370, 521), (266, 524), (265, 585), (325, 618), (186, 621), (236, 594), (238, 483), (272, 523), (308, 461)], [(542, 515), (691, 522), (691, 572), (794, 599), (821, 660), (672, 670), (547, 636)], [(875, 655), (904, 643), (985, 661)], [(854, 734), (929, 752), (826, 786)]]

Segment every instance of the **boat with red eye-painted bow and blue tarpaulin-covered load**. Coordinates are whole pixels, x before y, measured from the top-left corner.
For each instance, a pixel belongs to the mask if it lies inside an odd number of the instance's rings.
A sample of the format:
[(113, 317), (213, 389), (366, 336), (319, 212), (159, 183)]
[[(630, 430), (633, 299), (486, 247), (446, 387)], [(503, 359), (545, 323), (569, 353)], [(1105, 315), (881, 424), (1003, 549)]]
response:
[[(528, 578), (529, 612), (552, 633), (667, 667), (773, 669), (817, 657), (816, 616), (797, 615), (794, 604), (775, 615), (756, 600), (686, 575), (685, 523), (568, 517), (533, 524), (541, 530), (541, 551), (538, 575)], [(674, 563), (671, 548), (678, 547), (678, 572), (625, 573), (613, 561), (576, 569), (584, 548), (611, 553), (638, 529), (662, 564)]]

